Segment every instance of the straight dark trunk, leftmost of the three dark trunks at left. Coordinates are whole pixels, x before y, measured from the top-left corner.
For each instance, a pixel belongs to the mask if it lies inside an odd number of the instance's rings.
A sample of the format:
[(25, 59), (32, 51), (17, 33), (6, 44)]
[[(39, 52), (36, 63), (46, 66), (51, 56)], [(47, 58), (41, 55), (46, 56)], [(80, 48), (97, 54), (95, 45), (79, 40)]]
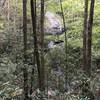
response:
[[(23, 43), (24, 43), (24, 64), (27, 63), (27, 0), (23, 0)], [(28, 100), (28, 71), (26, 65), (23, 68), (24, 76), (24, 100)]]

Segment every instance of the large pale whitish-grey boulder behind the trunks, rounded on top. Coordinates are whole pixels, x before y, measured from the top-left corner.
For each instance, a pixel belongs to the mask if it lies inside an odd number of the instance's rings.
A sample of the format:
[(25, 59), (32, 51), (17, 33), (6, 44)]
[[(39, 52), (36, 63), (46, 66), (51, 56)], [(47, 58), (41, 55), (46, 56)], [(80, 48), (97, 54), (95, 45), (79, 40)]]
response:
[(62, 27), (61, 18), (57, 14), (52, 12), (46, 12), (45, 14), (45, 33), (51, 35), (63, 34), (66, 29)]

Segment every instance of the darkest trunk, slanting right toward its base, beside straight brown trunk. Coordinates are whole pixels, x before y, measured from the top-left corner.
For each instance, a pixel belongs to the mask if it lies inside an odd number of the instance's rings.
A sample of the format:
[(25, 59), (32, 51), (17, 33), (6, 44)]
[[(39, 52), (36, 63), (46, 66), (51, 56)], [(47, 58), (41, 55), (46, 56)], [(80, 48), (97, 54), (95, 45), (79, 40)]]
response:
[(38, 69), (38, 84), (39, 88), (41, 85), (41, 73), (40, 73), (40, 57), (37, 45), (37, 34), (36, 34), (36, 0), (31, 0), (31, 18), (33, 27), (33, 38), (34, 38), (34, 58), (36, 59), (36, 65)]

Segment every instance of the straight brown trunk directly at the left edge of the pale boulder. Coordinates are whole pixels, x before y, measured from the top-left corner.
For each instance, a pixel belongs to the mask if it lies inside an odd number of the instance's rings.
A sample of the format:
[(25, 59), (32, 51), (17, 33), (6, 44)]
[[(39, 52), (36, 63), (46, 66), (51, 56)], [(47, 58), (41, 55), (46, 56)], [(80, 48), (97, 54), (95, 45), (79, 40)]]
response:
[(41, 0), (41, 79), (40, 79), (40, 90), (45, 90), (45, 71), (44, 71), (44, 0)]

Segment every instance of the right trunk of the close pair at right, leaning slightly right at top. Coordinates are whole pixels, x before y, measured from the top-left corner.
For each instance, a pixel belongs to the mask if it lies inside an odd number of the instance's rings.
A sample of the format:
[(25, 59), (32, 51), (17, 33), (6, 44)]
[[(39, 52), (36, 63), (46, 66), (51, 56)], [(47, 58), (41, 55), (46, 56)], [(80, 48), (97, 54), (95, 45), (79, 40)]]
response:
[(94, 4), (95, 0), (91, 0), (90, 15), (88, 21), (88, 38), (87, 38), (87, 72), (91, 74), (91, 45), (92, 45), (92, 27), (93, 27), (93, 16), (94, 16)]

